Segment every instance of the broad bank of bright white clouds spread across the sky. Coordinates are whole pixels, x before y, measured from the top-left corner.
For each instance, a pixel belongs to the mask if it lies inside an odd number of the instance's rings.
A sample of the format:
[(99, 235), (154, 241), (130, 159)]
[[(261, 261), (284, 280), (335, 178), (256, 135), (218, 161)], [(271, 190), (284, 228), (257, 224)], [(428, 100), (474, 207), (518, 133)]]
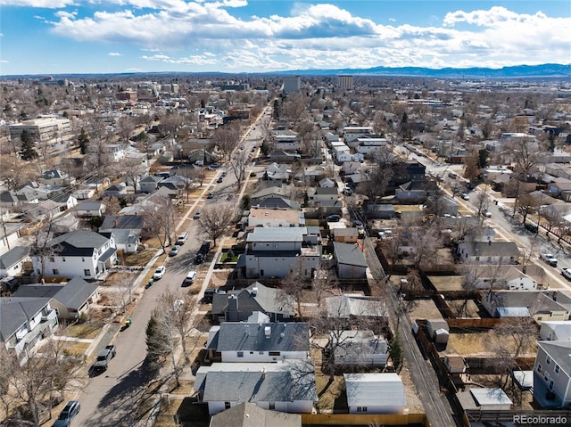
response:
[(211, 70), (531, 64), (568, 61), (571, 44), (571, 18), (504, 7), (450, 12), (421, 27), (378, 24), (334, 4), (298, 2), (288, 16), (240, 19), (232, 12), (244, 0), (115, 3), (128, 9), (82, 17), (57, 12), (53, 30), (79, 42), (136, 45), (156, 53), (142, 57), (148, 62)]

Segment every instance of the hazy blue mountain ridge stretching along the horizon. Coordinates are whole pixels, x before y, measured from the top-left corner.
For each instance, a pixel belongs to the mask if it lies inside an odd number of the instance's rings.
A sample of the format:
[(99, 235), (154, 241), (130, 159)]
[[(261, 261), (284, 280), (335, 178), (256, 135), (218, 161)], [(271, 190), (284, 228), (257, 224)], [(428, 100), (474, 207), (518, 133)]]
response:
[[(387, 76), (418, 78), (571, 78), (571, 64), (514, 65), (500, 69), (473, 67), (466, 69), (443, 68), (429, 69), (425, 67), (373, 67), (369, 69), (337, 69), (337, 70), (288, 70), (270, 72), (236, 72), (221, 71), (149, 71), (123, 73), (65, 73), (52, 74), (54, 78), (95, 78), (97, 76), (134, 77), (134, 76), (336, 76), (348, 74), (352, 76)], [(2, 78), (42, 78), (42, 75), (12, 75)]]

